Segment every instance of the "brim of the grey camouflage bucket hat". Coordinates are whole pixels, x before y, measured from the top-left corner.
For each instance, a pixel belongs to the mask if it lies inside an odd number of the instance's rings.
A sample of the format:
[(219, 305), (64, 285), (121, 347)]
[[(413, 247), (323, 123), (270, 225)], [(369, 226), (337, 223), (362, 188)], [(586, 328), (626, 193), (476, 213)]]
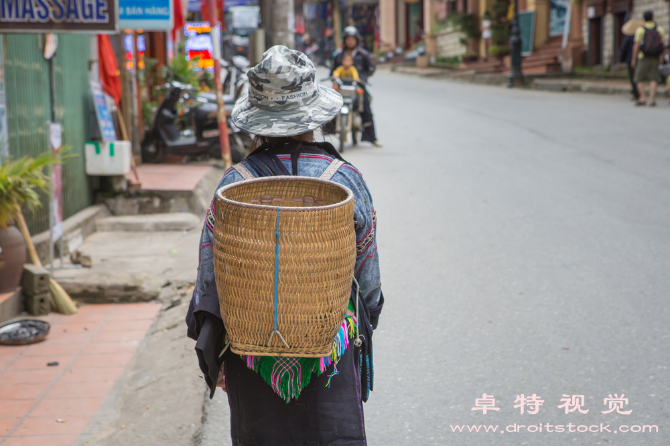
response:
[(231, 116), (236, 127), (262, 136), (296, 136), (316, 130), (330, 122), (342, 108), (342, 95), (332, 88), (318, 85), (318, 95), (311, 102), (290, 110), (265, 109), (241, 97)]

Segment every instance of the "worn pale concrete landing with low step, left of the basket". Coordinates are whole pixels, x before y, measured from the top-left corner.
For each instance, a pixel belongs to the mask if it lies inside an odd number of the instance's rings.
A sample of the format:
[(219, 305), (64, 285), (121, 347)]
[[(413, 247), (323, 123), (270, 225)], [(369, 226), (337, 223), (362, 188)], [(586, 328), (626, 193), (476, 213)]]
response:
[[(169, 282), (193, 282), (202, 220), (187, 213), (108, 217), (78, 248), (91, 268), (58, 270), (54, 277), (73, 299), (142, 302)], [(173, 230), (161, 230), (172, 228)], [(128, 230), (134, 229), (134, 230)], [(69, 265), (69, 262), (66, 262)]]

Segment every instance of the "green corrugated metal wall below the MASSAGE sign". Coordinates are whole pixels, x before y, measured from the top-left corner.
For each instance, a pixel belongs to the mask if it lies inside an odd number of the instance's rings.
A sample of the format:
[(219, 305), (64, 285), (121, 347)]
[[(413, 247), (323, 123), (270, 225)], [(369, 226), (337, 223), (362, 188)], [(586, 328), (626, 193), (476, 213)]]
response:
[[(42, 54), (42, 36), (8, 34), (5, 81), (9, 154), (13, 158), (37, 156), (48, 150), (47, 121), (51, 119), (49, 64)], [(89, 36), (58, 35), (53, 59), (56, 121), (63, 125), (63, 144), (71, 145), (63, 165), (63, 218), (92, 203), (91, 187), (84, 170), (84, 142), (88, 138)], [(49, 205), (42, 194), (42, 207), (26, 212), (32, 234), (49, 229)]]

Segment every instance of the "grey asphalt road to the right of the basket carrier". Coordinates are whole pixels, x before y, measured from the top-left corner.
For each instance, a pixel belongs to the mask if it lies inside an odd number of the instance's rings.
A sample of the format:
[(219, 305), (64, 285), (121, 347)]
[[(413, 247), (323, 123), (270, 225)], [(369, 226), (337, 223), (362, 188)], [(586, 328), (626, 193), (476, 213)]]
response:
[[(387, 300), (370, 444), (670, 444), (668, 101), (373, 79), (385, 147), (344, 154), (375, 199)], [(471, 410), (483, 393), (498, 412)], [(601, 413), (610, 394), (632, 413)], [(543, 432), (500, 433), (514, 423)]]

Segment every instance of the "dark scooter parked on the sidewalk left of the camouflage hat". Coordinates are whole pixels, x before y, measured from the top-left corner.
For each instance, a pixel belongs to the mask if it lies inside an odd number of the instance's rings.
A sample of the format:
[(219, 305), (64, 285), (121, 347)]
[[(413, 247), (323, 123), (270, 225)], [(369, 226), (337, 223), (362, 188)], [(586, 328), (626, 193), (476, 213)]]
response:
[[(193, 87), (180, 82), (169, 82), (159, 88), (165, 89), (166, 94), (156, 111), (153, 127), (142, 141), (142, 160), (159, 163), (165, 155), (221, 158), (216, 101), (209, 102), (202, 96), (204, 93), (196, 94)], [(226, 104), (227, 115), (232, 107), (233, 104)], [(183, 124), (181, 128), (179, 121)], [(235, 128), (230, 127), (232, 123), (228, 121), (231, 156), (237, 163), (244, 159), (246, 141), (235, 134)]]

